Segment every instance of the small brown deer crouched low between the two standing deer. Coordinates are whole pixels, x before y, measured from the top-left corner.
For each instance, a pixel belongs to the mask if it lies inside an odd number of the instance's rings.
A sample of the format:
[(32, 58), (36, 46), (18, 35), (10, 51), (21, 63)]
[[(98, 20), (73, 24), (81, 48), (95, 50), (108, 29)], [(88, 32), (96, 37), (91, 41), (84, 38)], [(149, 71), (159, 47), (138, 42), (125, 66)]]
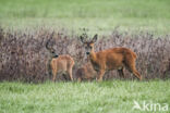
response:
[(97, 72), (94, 70), (90, 62), (87, 62), (76, 71), (76, 78), (78, 81), (92, 80), (97, 76)]

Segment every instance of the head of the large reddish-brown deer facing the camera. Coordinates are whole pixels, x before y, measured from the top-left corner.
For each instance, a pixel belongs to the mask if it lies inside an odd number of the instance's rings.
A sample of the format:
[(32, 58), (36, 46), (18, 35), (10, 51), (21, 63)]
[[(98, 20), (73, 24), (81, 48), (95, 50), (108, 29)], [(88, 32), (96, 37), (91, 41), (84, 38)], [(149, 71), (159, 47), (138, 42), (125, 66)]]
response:
[(97, 34), (94, 36), (92, 40), (88, 40), (88, 41), (86, 40), (87, 35), (82, 35), (80, 38), (81, 38), (81, 41), (83, 42), (86, 54), (90, 54), (94, 51), (94, 45), (97, 41)]

